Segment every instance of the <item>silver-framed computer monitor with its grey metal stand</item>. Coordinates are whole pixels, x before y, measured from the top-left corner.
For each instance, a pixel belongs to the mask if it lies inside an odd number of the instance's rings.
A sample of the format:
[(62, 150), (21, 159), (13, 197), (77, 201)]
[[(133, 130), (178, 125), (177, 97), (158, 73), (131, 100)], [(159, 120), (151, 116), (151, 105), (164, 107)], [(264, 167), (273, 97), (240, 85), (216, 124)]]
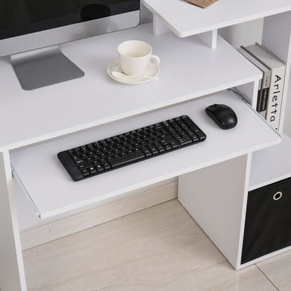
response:
[(80, 78), (58, 44), (135, 27), (139, 0), (0, 0), (0, 57), (24, 90)]

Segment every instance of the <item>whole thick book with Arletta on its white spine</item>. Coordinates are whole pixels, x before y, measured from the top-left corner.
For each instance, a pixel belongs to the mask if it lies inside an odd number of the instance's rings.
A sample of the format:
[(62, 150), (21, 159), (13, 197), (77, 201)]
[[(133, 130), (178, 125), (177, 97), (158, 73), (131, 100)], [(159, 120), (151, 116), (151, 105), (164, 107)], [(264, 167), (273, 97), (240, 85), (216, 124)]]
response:
[(271, 70), (266, 120), (278, 130), (283, 98), (285, 64), (259, 43), (248, 45), (244, 49)]

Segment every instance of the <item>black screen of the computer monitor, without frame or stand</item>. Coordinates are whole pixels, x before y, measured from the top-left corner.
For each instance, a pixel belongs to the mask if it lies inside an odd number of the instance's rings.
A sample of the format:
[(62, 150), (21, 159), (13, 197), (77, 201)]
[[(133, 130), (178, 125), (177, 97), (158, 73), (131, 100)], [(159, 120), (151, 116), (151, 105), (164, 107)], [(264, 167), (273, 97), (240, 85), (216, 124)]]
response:
[(1, 0), (0, 39), (139, 11), (139, 5), (139, 0)]

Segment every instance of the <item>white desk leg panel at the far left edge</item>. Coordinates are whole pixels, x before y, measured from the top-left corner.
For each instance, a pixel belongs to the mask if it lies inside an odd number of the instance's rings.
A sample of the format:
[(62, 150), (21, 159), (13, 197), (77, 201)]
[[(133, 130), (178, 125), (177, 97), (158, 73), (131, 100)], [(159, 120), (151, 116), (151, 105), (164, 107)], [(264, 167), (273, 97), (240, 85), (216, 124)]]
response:
[(0, 290), (27, 290), (8, 151), (0, 152)]

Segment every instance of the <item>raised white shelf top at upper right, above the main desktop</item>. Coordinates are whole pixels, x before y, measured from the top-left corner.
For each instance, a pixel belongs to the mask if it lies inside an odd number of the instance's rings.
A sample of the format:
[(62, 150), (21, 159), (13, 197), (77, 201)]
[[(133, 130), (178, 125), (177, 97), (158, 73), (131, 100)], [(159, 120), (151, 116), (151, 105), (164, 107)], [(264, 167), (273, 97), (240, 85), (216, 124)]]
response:
[(291, 9), (290, 0), (218, 0), (200, 8), (180, 0), (142, 0), (180, 37), (255, 20)]

